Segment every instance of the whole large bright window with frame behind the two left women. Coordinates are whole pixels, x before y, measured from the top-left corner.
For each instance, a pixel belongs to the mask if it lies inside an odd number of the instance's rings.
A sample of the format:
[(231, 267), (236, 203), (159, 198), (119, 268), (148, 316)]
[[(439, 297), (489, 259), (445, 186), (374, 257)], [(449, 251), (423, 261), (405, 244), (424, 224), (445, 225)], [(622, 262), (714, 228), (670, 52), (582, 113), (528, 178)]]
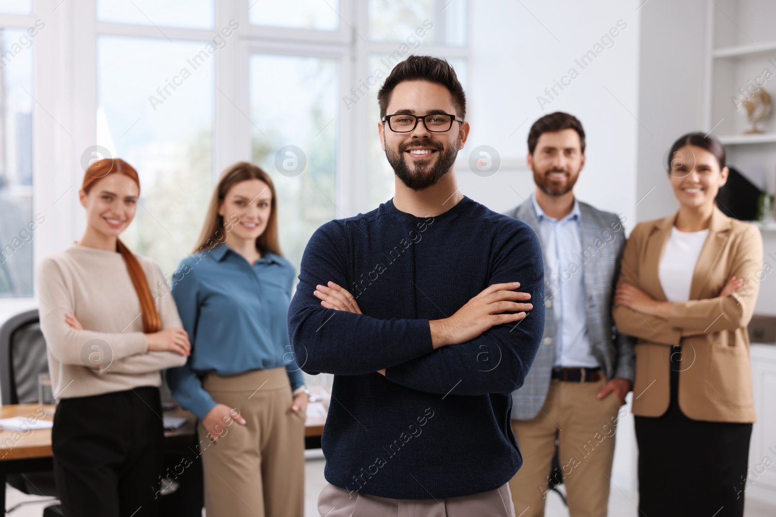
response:
[[(0, 0), (0, 18), (24, 29), (39, 4)], [(43, 212), (56, 214), (45, 231), (58, 240), (39, 240), (37, 260), (81, 236), (83, 173), (73, 157), (96, 145), (95, 158), (121, 157), (140, 174), (137, 215), (122, 239), (165, 274), (195, 246), (220, 172), (241, 160), (272, 176), (282, 251), (299, 271), (315, 229), (393, 195), (375, 98), (391, 68), (427, 53), (448, 58), (466, 82), (466, 0), (95, 0), (52, 9), (61, 16), (47, 30), (64, 36), (37, 54), (39, 82), (28, 49), (0, 74), (0, 196), (3, 210), (16, 211), (4, 215), (0, 238), (33, 219), (42, 195)], [(22, 34), (12, 30), (3, 45)], [(63, 57), (74, 65), (59, 66)], [(42, 139), (40, 173), (33, 135)], [(60, 164), (67, 174), (57, 182), (33, 178), (48, 180), (43, 169)], [(13, 259), (0, 265), (0, 296), (31, 295), (19, 279), (33, 285), (33, 248), (19, 249), (28, 255), (13, 271)]]

